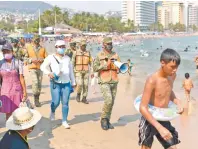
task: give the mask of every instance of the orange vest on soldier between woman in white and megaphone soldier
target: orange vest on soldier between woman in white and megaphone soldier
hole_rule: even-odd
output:
[[[88,51],[76,52],[76,71],[88,71],[89,70],[89,62],[90,62],[90,53]]]

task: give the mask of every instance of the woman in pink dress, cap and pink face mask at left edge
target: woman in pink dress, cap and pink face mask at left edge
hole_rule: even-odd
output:
[[[23,76],[23,63],[13,57],[10,44],[2,47],[4,59],[0,61],[1,96],[0,112],[6,113],[6,120],[26,100],[27,92]]]

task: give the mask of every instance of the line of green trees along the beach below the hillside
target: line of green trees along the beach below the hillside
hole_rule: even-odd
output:
[[[72,17],[69,16],[68,11],[62,11],[59,7],[55,6],[51,10],[46,10],[41,15],[41,28],[48,26],[55,26],[57,24],[63,23],[70,25],[74,28],[80,29],[81,31],[90,32],[137,32],[140,31],[139,25],[135,26],[133,20],[128,20],[123,23],[121,18],[109,17],[105,18],[103,15],[92,14],[89,12],[76,13]],[[0,29],[7,31],[13,31],[15,25],[11,20],[0,21]],[[31,20],[29,22],[22,21],[19,22],[16,27],[18,29],[24,29],[25,32],[38,33],[39,22],[37,20]],[[193,25],[189,26],[193,31],[197,31],[198,28]],[[150,31],[163,32],[165,29],[159,22],[153,23],[148,27]],[[175,32],[182,32],[186,30],[185,25],[176,23],[169,24],[168,30]]]

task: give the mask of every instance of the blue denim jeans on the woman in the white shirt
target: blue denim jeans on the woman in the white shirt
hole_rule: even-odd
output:
[[[71,92],[70,83],[55,83],[50,81],[50,90],[52,96],[51,102],[51,112],[55,113],[56,108],[59,106],[60,101],[62,103],[62,121],[67,121],[67,116],[69,112],[69,99]]]

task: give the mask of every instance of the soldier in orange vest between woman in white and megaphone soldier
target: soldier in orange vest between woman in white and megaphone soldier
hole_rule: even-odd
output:
[[[72,63],[76,75],[77,82],[77,102],[80,102],[82,92],[82,102],[89,104],[87,101],[88,83],[89,83],[89,66],[91,66],[92,58],[89,51],[86,51],[86,41],[80,42],[80,49],[73,54]]]

